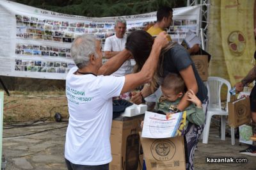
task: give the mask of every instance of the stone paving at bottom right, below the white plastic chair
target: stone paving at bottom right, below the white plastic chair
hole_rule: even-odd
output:
[[[229,128],[230,129],[230,128]],[[228,131],[228,128],[226,132]],[[198,149],[195,151],[195,169],[256,169],[256,157],[240,154],[240,150],[248,148],[247,144],[239,144],[239,139],[236,139],[236,144],[231,145],[231,138],[226,137],[225,141],[221,141],[218,128],[211,127],[209,133],[208,144],[198,143]],[[207,163],[208,158],[245,158],[246,163]]]

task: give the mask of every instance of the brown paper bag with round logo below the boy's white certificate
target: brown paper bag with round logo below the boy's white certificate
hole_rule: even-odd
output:
[[[186,169],[183,136],[140,139],[147,170]]]

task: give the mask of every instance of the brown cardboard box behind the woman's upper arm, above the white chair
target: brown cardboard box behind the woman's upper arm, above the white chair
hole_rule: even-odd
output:
[[[196,70],[202,79],[202,81],[207,81],[208,79],[208,56],[207,55],[195,55],[191,56],[191,59],[195,63]]]

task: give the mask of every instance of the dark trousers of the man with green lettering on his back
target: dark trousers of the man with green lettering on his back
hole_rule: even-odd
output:
[[[84,166],[73,164],[72,162],[67,160],[67,158],[65,158],[65,162],[68,170],[109,170],[109,164],[104,164],[100,166]]]

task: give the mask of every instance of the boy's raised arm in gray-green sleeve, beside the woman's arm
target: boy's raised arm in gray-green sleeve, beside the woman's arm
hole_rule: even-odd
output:
[[[196,97],[195,93],[189,89],[187,93],[189,101],[193,102],[196,105],[195,109],[187,111],[187,120],[196,125],[203,125],[205,121],[205,113],[202,108],[202,102]]]

